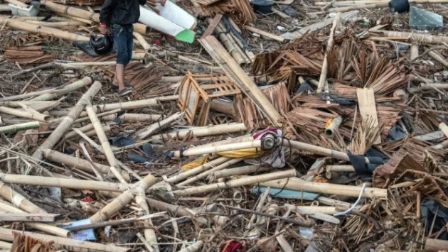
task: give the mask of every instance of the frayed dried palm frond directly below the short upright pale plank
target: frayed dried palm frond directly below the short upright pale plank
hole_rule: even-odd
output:
[[[358,130],[348,145],[348,150],[351,150],[351,153],[356,155],[364,155],[373,146],[376,139],[380,137],[383,128],[383,125],[375,126],[375,121],[371,117],[368,120],[364,120],[361,124],[358,124]]]

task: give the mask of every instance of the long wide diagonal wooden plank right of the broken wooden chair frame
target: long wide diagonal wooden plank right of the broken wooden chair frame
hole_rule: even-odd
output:
[[[238,63],[233,59],[232,56],[225,50],[223,45],[214,36],[208,36],[206,38],[200,39],[199,43],[205,48],[213,57],[215,62],[218,62],[221,68],[227,76],[235,82],[235,84],[240,87],[241,91],[244,92],[247,97],[252,99],[258,109],[270,120],[271,124],[274,126],[279,125],[280,116],[279,112],[271,104],[266,95],[261,91],[255,82],[246,75],[244,70],[238,65]]]

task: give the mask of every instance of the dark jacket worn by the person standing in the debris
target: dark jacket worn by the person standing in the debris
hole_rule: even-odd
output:
[[[146,0],[106,0],[100,11],[100,22],[107,25],[130,25],[140,17],[139,4]]]

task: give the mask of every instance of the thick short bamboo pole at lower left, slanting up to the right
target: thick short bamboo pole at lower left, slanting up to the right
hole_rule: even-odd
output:
[[[144,177],[143,180],[140,180],[139,182],[134,184],[132,186],[132,189],[122,193],[122,195],[116,197],[112,202],[107,204],[105,207],[100,209],[100,211],[98,211],[96,214],[90,217],[90,221],[92,221],[92,223],[107,221],[107,219],[112,217],[113,214],[115,214],[124,206],[129,204],[129,202],[131,202],[132,199],[134,199],[135,194],[136,192],[138,192],[138,190],[146,191],[146,189],[151,187],[151,185],[154,185],[156,182],[157,182],[156,177],[154,177],[151,174],[146,175],[146,177]]]

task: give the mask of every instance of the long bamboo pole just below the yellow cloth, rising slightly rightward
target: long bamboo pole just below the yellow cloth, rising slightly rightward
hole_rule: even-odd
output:
[[[281,178],[297,176],[296,170],[285,170],[282,172],[272,172],[264,175],[257,175],[252,177],[243,177],[238,180],[230,180],[228,182],[219,182],[211,185],[203,185],[198,187],[190,187],[184,190],[174,191],[176,196],[196,195],[206,192],[213,192],[221,189],[228,189],[233,187],[241,187],[244,185],[253,185],[260,182],[267,182],[271,180],[279,180]]]

